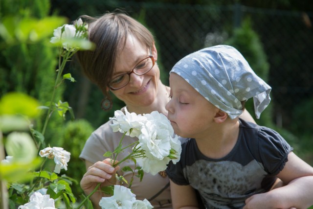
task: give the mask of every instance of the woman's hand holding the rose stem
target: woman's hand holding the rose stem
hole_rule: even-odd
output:
[[[99,183],[101,183],[100,187],[116,184],[115,173],[119,169],[119,166],[113,167],[111,162],[112,159],[109,158],[94,164],[86,162],[86,167],[92,164],[88,167],[87,172],[80,181],[80,186],[86,195],[89,195]],[[117,162],[115,161],[115,163]],[[95,206],[98,206],[103,196],[102,192],[95,192],[90,197],[90,200]]]

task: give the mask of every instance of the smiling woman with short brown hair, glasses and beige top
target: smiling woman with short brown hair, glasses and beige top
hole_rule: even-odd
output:
[[[105,95],[104,108],[112,102],[111,91],[122,100],[129,112],[136,114],[158,111],[167,116],[165,106],[169,101],[169,87],[162,84],[157,66],[157,51],[153,35],[141,23],[123,13],[106,13],[98,19],[90,18],[89,40],[96,44],[94,51],[79,51],[78,60],[84,73],[98,85]],[[248,114],[245,118],[254,121]],[[87,172],[81,180],[81,187],[88,195],[98,183],[101,186],[116,184],[115,172],[126,180],[131,172],[122,172],[113,168],[110,159],[103,157],[107,151],[113,151],[122,137],[113,133],[109,120],[100,126],[87,140],[80,157],[86,162]],[[123,146],[137,139],[125,137]],[[122,159],[127,152],[120,153]],[[134,162],[125,162],[123,166],[134,167]],[[157,209],[170,209],[171,196],[169,180],[164,172],[155,176],[145,173],[142,182],[134,178],[132,190],[136,199],[148,199]],[[104,194],[95,192],[90,200],[95,207]]]

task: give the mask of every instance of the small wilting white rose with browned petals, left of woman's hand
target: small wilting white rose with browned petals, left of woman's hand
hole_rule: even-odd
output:
[[[54,159],[55,173],[60,173],[61,169],[67,170],[67,163],[70,159],[70,153],[67,152],[62,147],[46,147],[45,149],[39,152],[41,157],[46,157],[49,159]]]

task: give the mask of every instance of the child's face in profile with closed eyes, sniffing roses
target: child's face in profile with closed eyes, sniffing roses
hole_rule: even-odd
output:
[[[207,136],[219,109],[176,73],[170,73],[170,87],[171,100],[166,110],[175,133],[185,138]]]

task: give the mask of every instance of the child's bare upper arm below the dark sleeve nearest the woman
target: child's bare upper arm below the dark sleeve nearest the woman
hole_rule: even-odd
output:
[[[194,188],[189,185],[177,185],[171,180],[170,184],[173,209],[198,209],[197,196]]]

